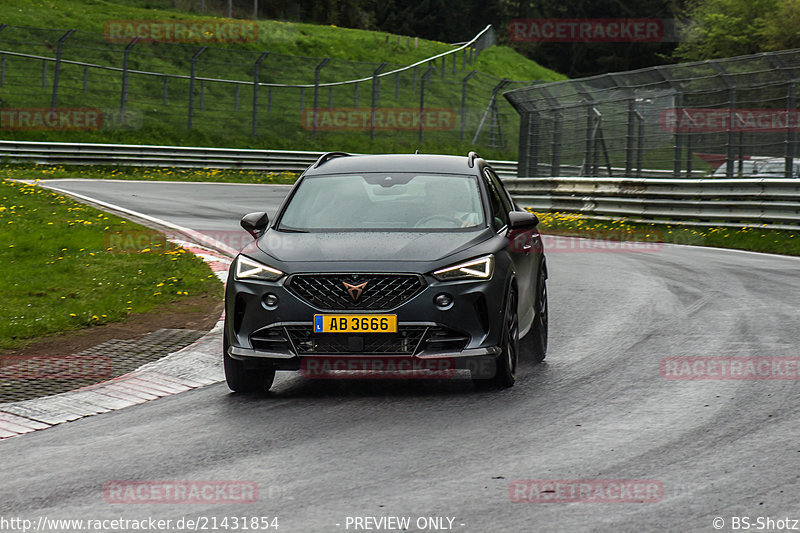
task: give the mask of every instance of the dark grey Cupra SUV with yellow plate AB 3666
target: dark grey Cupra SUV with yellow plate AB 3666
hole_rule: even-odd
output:
[[[241,224],[255,241],[225,293],[233,391],[269,389],[276,370],[467,369],[476,384],[510,387],[520,352],[545,357],[538,219],[474,152],[328,153],[275,220]]]

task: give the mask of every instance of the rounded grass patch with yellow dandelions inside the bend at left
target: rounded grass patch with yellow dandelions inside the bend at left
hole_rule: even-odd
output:
[[[152,230],[34,185],[0,181],[0,349],[195,296],[222,296],[201,259],[157,244],[133,252],[113,234]]]

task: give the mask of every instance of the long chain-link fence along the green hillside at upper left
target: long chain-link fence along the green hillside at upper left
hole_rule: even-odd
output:
[[[103,129],[205,132],[267,147],[389,139],[513,151],[519,123],[500,91],[531,82],[474,70],[495,42],[489,26],[464,45],[395,65],[0,25],[0,131],[24,129],[24,118],[36,119],[31,109],[97,108]]]

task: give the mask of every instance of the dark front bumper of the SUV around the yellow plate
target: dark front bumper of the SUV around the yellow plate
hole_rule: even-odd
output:
[[[506,280],[440,282],[424,277],[425,286],[401,305],[386,311],[349,311],[353,314],[395,314],[398,334],[392,344],[387,334],[313,333],[313,316],[325,313],[296,296],[285,280],[240,281],[229,277],[226,288],[228,355],[247,366],[271,365],[297,370],[309,358],[374,357],[452,360],[469,368],[468,360],[496,358],[500,353]],[[452,304],[437,307],[434,298],[447,293]],[[277,298],[266,305],[265,297]],[[330,312],[330,311],[328,311]],[[337,311],[338,312],[338,311]],[[403,338],[401,338],[403,337]]]

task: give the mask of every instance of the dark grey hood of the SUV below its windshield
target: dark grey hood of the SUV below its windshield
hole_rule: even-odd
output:
[[[269,230],[258,247],[279,261],[436,261],[492,236],[470,232],[290,233]]]

